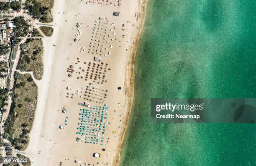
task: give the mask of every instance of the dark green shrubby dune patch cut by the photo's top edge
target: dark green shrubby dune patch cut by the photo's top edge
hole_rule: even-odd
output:
[[[51,8],[53,5],[53,0],[26,0],[25,2],[25,6],[33,18],[36,18],[40,22],[44,23],[53,21],[51,15]]]

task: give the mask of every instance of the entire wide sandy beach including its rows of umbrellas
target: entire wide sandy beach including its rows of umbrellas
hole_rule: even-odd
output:
[[[75,160],[83,165],[118,164],[132,104],[133,58],[144,12],[142,0],[123,0],[120,6],[54,1],[54,34],[43,39],[44,76],[36,82],[38,104],[25,151],[32,166],[61,162],[70,166]],[[94,57],[100,57],[100,62]],[[90,102],[90,107],[78,105],[84,102]],[[108,108],[104,115],[100,113],[104,118],[100,114],[96,118],[100,107]],[[67,113],[62,113],[63,108]],[[87,114],[89,109],[88,121],[93,119],[90,125],[94,126],[87,133],[80,125],[87,118],[82,112]],[[89,129],[88,123],[84,121]],[[95,135],[89,140],[85,133]],[[94,153],[100,157],[93,157]]]

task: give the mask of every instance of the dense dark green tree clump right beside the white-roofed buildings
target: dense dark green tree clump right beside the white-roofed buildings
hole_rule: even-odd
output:
[[[22,17],[15,17],[13,19],[15,22],[14,36],[16,37],[25,37],[28,34],[29,26],[26,20],[23,20]],[[14,38],[14,40],[15,40]]]

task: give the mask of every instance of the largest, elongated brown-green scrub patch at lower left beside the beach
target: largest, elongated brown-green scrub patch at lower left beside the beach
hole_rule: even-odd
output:
[[[35,82],[28,82],[30,74],[15,72],[16,87],[13,90],[14,108],[5,122],[5,137],[9,139],[15,149],[24,151],[29,142],[28,133],[31,131],[36,111],[37,86]],[[20,84],[18,87],[17,85]]]

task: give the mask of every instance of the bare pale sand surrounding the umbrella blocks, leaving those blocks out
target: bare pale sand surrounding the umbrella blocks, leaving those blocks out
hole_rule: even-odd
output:
[[[44,77],[37,82],[38,107],[30,134],[30,144],[25,151],[33,166],[54,166],[59,165],[60,162],[63,162],[64,166],[69,166],[74,165],[74,160],[91,165],[96,164],[97,161],[101,162],[100,165],[103,165],[102,163],[114,164],[113,160],[119,156],[120,151],[118,142],[121,141],[119,136],[123,133],[121,128],[126,125],[123,122],[126,120],[125,115],[131,106],[130,98],[133,87],[127,85],[131,85],[129,82],[133,81],[133,77],[130,78],[132,67],[128,67],[128,64],[133,65],[131,53],[132,49],[135,49],[133,44],[136,43],[136,35],[141,26],[141,20],[143,20],[138,18],[141,16],[139,14],[140,3],[139,0],[132,2],[123,0],[121,7],[105,7],[97,4],[87,5],[80,0],[54,1],[54,34],[52,37],[43,39],[45,48]],[[113,12],[116,11],[120,12],[119,17],[113,16]],[[103,146],[76,141],[79,109],[83,108],[79,107],[77,103],[84,102],[84,100],[76,94],[74,99],[66,98],[67,92],[74,93],[77,89],[86,88],[92,82],[90,79],[85,81],[76,77],[67,77],[67,68],[70,64],[74,64],[77,58],[81,61],[77,64],[79,67],[83,67],[83,62],[94,63],[95,55],[87,53],[87,49],[91,41],[92,27],[99,17],[108,18],[110,23],[115,23],[115,26],[118,27],[115,30],[117,40],[113,41],[114,47],[111,49],[111,56],[107,55],[106,57],[106,59],[110,59],[110,62],[102,61],[108,63],[108,67],[111,68],[106,74],[108,82],[95,83],[95,87],[108,90],[108,96],[104,103],[111,106],[111,109],[108,109],[107,119],[111,124],[106,125]],[[129,22],[127,22],[128,20]],[[77,23],[83,23],[82,35],[78,37],[81,40],[75,43],[73,40],[77,34]],[[123,23],[125,27],[122,27]],[[134,26],[132,26],[133,24]],[[122,28],[125,28],[125,31]],[[86,52],[80,53],[79,48],[82,46],[85,47]],[[72,90],[67,91],[67,87],[71,87]],[[122,87],[122,90],[118,90],[118,87]],[[92,103],[91,105],[98,104]],[[67,109],[67,114],[61,113],[63,107]],[[64,125],[66,116],[70,117],[68,125],[65,126],[65,129],[60,130],[59,125]],[[112,131],[115,132],[112,133]],[[107,141],[109,141],[108,144]],[[102,148],[105,148],[106,151],[102,151]],[[118,150],[118,155],[116,155],[116,150]],[[95,152],[101,154],[100,158],[92,157]]]

